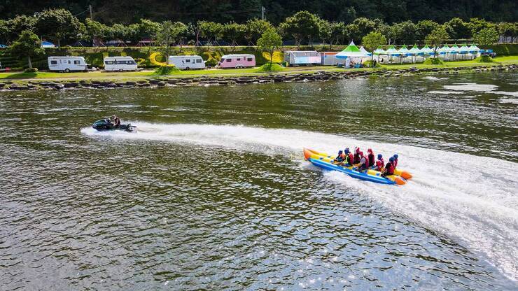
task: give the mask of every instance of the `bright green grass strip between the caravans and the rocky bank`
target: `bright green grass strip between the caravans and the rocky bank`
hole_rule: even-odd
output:
[[[430,64],[382,64],[381,69],[408,69],[413,66],[417,69],[427,68],[444,68],[444,67],[469,67],[469,66],[494,66],[498,64],[518,64],[518,56],[496,57],[494,62],[482,63],[474,60],[444,62],[441,65]],[[276,73],[314,73],[316,71],[358,71],[370,70],[365,69],[340,69],[335,66],[297,66],[288,67],[281,72]],[[257,68],[251,69],[207,69],[207,70],[191,70],[191,71],[176,71],[167,76],[155,75],[154,71],[138,71],[138,72],[74,72],[74,73],[55,73],[55,72],[37,72],[37,73],[23,73],[23,72],[8,72],[0,73],[0,79],[42,79],[42,80],[57,80],[57,79],[103,79],[103,80],[120,80],[132,78],[171,78],[171,77],[194,77],[194,76],[257,76],[260,74],[267,74],[267,72],[260,72]]]

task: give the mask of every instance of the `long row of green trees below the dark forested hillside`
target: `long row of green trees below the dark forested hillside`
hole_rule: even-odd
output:
[[[18,15],[9,20],[0,20],[0,41],[12,43],[22,31],[28,30],[58,46],[73,45],[76,41],[99,45],[111,40],[135,45],[143,39],[154,40],[164,23],[141,19],[129,25],[107,25],[90,18],[80,21],[69,10],[49,9],[33,16]],[[176,45],[255,45],[262,32],[267,29],[275,29],[285,40],[292,40],[297,46],[314,43],[343,45],[349,41],[360,44],[363,37],[371,31],[379,32],[388,44],[424,43],[426,36],[437,29],[444,29],[451,41],[470,40],[483,29],[495,31],[493,34],[505,36],[510,41],[516,40],[518,34],[516,22],[494,23],[479,18],[465,21],[455,17],[442,24],[432,20],[416,23],[407,20],[387,24],[380,19],[358,17],[346,24],[330,22],[308,11],[299,11],[286,17],[278,26],[257,18],[245,23],[204,20],[195,23],[171,23],[174,36],[170,41]]]

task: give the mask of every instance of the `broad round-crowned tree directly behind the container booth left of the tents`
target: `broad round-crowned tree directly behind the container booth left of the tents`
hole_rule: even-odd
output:
[[[318,36],[318,17],[307,11],[299,11],[295,15],[286,18],[279,28],[284,36],[291,36],[295,39],[297,49],[304,38],[313,45],[313,38]]]

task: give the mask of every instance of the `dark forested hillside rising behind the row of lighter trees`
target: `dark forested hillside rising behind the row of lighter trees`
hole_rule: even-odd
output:
[[[141,18],[155,21],[246,22],[265,17],[279,24],[299,10],[316,13],[325,20],[350,23],[357,17],[379,18],[387,23],[404,20],[446,22],[453,17],[479,17],[493,22],[516,22],[517,0],[1,0],[0,19],[32,15],[45,8],[66,8],[84,19],[93,7],[94,19],[106,24],[130,24]]]

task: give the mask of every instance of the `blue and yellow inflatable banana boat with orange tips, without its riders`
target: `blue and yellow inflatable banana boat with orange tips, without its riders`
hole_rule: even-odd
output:
[[[332,160],[334,157],[325,155],[321,152],[316,152],[314,150],[309,150],[307,148],[304,148],[304,158],[311,162],[311,164],[321,167],[322,169],[340,171],[360,180],[367,180],[370,182],[387,185],[405,185],[407,183],[404,178],[398,175],[386,176],[384,178],[381,177],[381,172],[379,171],[367,170],[366,172],[360,172],[353,170],[353,166],[339,166],[337,164],[333,164]]]

